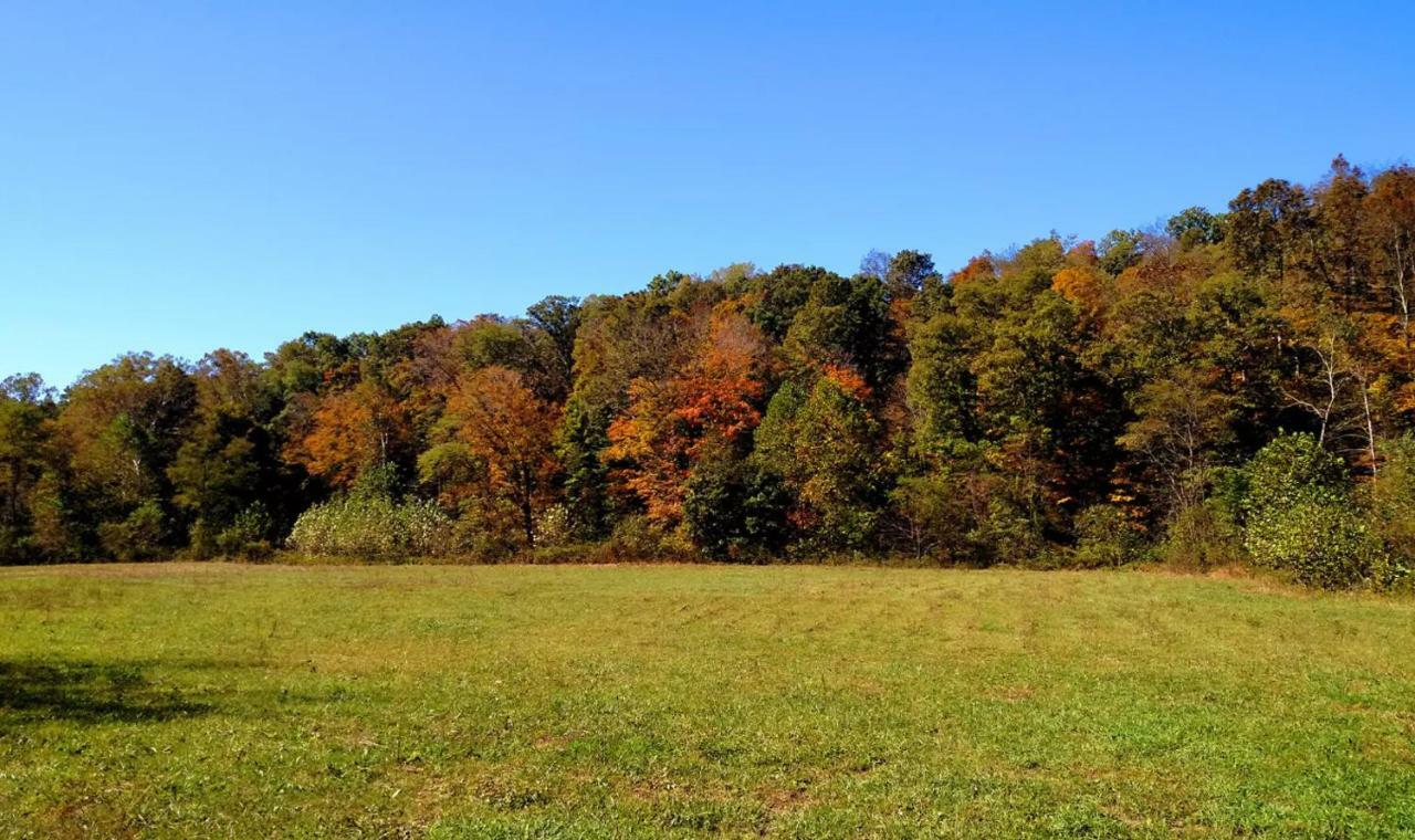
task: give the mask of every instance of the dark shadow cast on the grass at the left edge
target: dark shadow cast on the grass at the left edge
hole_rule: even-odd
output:
[[[0,659],[0,731],[30,723],[144,723],[215,710],[212,692],[154,683],[156,660]],[[164,663],[170,666],[170,663]],[[188,667],[219,667],[190,663]]]

